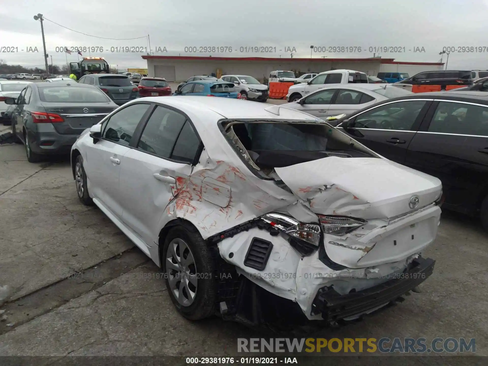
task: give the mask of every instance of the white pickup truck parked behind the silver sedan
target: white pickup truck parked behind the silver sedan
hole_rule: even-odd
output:
[[[366,84],[368,83],[367,75],[364,72],[354,70],[330,70],[321,72],[308,82],[290,86],[286,100],[288,102],[294,102],[325,86],[347,83]]]

